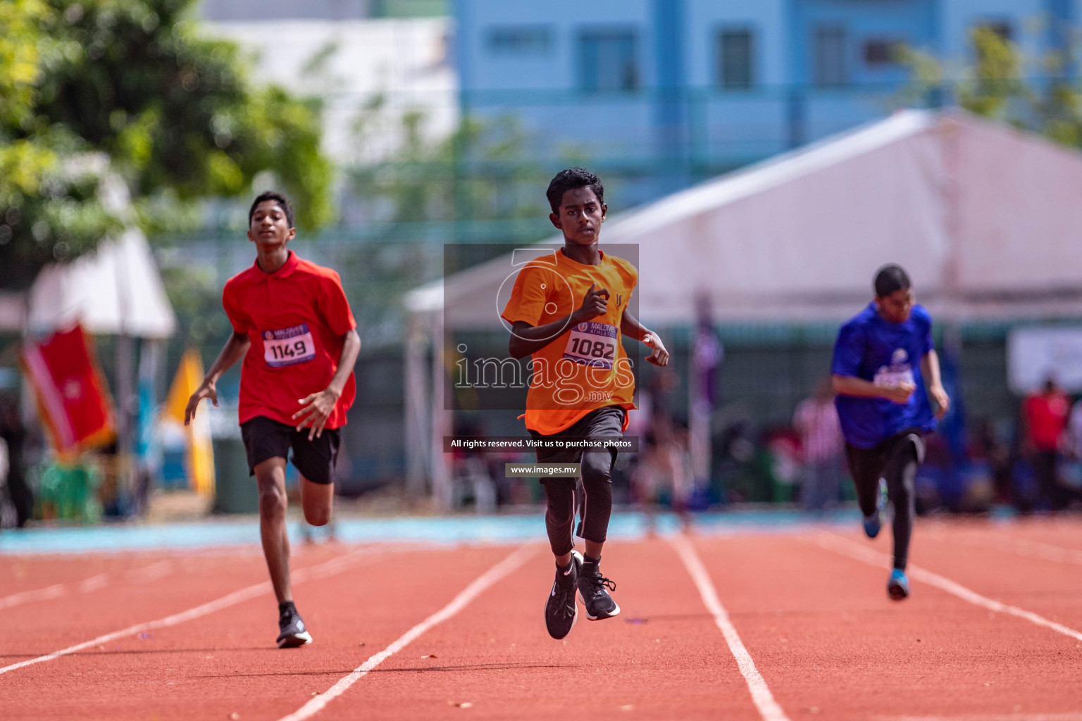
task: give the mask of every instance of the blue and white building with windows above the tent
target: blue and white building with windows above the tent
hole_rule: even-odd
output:
[[[464,114],[517,116],[538,157],[637,175],[646,200],[906,104],[899,45],[959,74],[986,26],[1037,71],[1069,54],[1082,0],[453,0],[452,12]]]

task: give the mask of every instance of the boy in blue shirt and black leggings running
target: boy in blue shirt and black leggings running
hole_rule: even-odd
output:
[[[936,418],[950,406],[932,343],[932,317],[913,305],[909,276],[900,266],[880,269],[875,298],[839,331],[831,373],[849,473],[869,538],[879,535],[886,500],[894,503],[894,569],[887,595],[900,601],[909,596],[906,562],[913,531],[913,479],[924,459],[922,436],[935,430]]]

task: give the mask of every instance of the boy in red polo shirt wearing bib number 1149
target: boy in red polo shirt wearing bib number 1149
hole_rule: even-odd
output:
[[[345,425],[360,351],[357,323],[342,282],[330,268],[287,249],[296,235],[293,209],[264,192],[248,212],[255,263],[230,278],[222,305],[233,335],[188,399],[184,422],[203,398],[217,405],[215,383],[245,359],[240,371],[240,431],[248,468],[260,489],[260,536],[278,598],[278,647],[312,642],[293,605],[286,532],[286,459],[301,472],[301,504],[312,525],[330,520],[339,428]]]

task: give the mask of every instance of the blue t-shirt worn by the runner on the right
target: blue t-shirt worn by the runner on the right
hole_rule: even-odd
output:
[[[839,396],[834,399],[845,440],[858,449],[872,449],[907,428],[934,430],[935,414],[921,377],[921,360],[933,350],[932,317],[913,306],[909,320],[892,323],[871,303],[837,333],[831,373],[870,380],[878,386],[916,384],[905,405],[886,398]]]

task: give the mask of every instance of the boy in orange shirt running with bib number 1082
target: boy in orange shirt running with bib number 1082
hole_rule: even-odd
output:
[[[618,439],[634,409],[635,379],[621,344],[628,335],[651,348],[646,360],[669,363],[664,344],[629,311],[638,271],[598,249],[608,206],[601,179],[581,168],[560,171],[545,193],[549,219],[564,233],[564,248],[527,264],[518,273],[502,317],[512,324],[513,358],[532,355],[526,428],[538,439]],[[579,592],[590,620],[620,613],[601,573],[602,546],[612,510],[616,451],[538,450],[538,463],[581,463],[581,522],[585,557],[575,550],[575,478],[544,478],[545,528],[556,560],[556,579],[545,602],[545,626],[567,636],[578,616]]]

